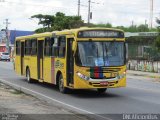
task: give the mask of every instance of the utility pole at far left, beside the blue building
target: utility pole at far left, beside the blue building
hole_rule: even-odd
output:
[[[9,31],[8,31],[8,25],[10,23],[8,22],[8,19],[5,19],[4,24],[6,24],[6,49],[7,49],[7,52],[10,53],[10,49],[9,49]]]

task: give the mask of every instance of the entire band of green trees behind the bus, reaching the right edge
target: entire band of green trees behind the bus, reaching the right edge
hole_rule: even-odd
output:
[[[62,12],[57,12],[55,15],[42,15],[37,14],[31,16],[31,18],[36,18],[39,20],[38,24],[42,25],[43,28],[39,28],[35,30],[35,32],[46,32],[46,31],[54,31],[54,30],[63,30],[63,29],[72,29],[72,28],[79,28],[82,26],[88,26],[88,27],[105,27],[105,28],[111,28],[113,27],[110,23],[99,23],[99,24],[93,24],[90,23],[89,25],[87,23],[84,23],[81,16],[66,16]],[[160,23],[160,20],[157,19],[157,23]],[[117,26],[115,28],[122,29],[125,32],[156,32],[157,29],[149,29],[148,25],[141,24],[139,26],[132,25],[129,27],[124,26]]]

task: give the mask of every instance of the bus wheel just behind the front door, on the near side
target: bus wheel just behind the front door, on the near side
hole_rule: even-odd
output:
[[[64,80],[63,80],[63,76],[62,74],[59,76],[59,80],[58,80],[58,87],[59,87],[59,91],[61,93],[67,93],[68,89],[66,87],[64,87]]]

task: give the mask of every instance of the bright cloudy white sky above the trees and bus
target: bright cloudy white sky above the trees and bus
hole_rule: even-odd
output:
[[[80,15],[87,22],[88,0],[80,0]],[[91,0],[92,23],[111,23],[113,26],[130,26],[150,23],[151,0]],[[160,0],[153,0],[153,26],[160,18]],[[77,15],[78,0],[0,0],[0,29],[5,28],[9,19],[10,30],[34,31],[42,27],[37,19],[29,19],[35,14],[54,15],[63,12]]]

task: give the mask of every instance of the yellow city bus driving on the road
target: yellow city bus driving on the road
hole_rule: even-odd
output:
[[[17,37],[15,71],[55,84],[60,92],[126,86],[124,32],[113,28],[79,28]]]

